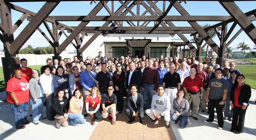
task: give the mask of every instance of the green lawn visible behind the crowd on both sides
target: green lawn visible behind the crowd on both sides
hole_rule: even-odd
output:
[[[255,60],[256,61],[256,60]],[[37,66],[29,66],[32,69],[39,70],[42,65]],[[236,65],[236,68],[241,71],[241,73],[245,76],[245,83],[250,85],[251,88],[256,89],[256,65]],[[5,91],[5,82],[4,82],[4,74],[3,68],[0,68],[0,92]]]

